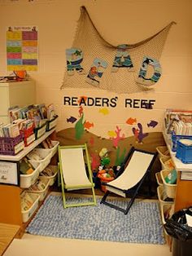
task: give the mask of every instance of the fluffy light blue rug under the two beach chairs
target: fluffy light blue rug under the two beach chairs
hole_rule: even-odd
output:
[[[71,197],[73,203],[84,199]],[[89,200],[89,198],[86,198]],[[124,201],[116,201],[126,207]],[[26,231],[33,235],[95,241],[164,244],[157,202],[135,201],[127,215],[107,205],[63,209],[62,196],[48,196]]]

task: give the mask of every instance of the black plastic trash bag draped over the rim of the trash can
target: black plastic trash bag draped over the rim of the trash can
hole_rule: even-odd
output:
[[[164,224],[164,228],[168,232],[168,235],[180,241],[192,240],[192,227],[187,225],[185,214],[192,215],[192,206],[172,214],[172,218],[168,218]]]

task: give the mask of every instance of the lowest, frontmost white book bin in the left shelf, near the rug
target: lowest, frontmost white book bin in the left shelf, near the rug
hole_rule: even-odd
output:
[[[39,198],[39,195],[26,192],[26,190],[21,193],[21,214],[24,223],[27,223],[28,219],[32,217],[34,212],[37,210]]]

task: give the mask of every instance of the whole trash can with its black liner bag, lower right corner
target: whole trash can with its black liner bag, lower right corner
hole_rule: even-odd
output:
[[[172,236],[172,256],[192,255],[192,206],[179,210],[166,220],[165,230]]]

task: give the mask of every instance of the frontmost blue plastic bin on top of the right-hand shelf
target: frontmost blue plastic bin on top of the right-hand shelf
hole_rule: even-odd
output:
[[[177,141],[176,157],[184,164],[192,163],[192,139],[180,139]]]

